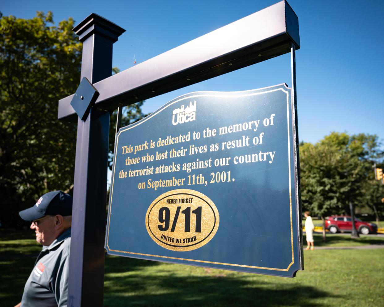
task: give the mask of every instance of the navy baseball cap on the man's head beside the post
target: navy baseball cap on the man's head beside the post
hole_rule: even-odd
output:
[[[19,212],[25,221],[34,221],[46,215],[72,215],[72,196],[63,191],[48,192],[31,208]]]

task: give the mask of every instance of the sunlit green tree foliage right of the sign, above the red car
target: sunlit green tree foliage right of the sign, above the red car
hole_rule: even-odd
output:
[[[303,208],[325,217],[349,213],[349,201],[355,206],[377,204],[383,190],[372,178],[372,165],[383,157],[380,145],[376,135],[338,132],[314,145],[301,143]]]

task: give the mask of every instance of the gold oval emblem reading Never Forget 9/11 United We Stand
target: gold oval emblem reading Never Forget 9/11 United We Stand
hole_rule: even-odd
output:
[[[171,251],[192,251],[216,234],[218,211],[204,194],[188,189],[168,191],[152,201],[146,214],[148,234]]]

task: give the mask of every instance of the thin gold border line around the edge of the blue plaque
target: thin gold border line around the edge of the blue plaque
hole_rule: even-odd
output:
[[[287,89],[290,89],[289,87],[286,86],[286,84],[283,83],[283,84],[277,84],[277,85],[274,85],[274,86],[263,87],[263,88],[257,89],[257,90],[267,89],[267,88],[276,87],[276,86],[284,86]],[[293,225],[292,225],[292,193],[291,193],[292,187],[291,187],[291,153],[290,153],[290,141],[291,141],[291,139],[290,139],[290,131],[289,131],[289,127],[290,127],[290,120],[289,120],[289,92],[285,91],[283,88],[280,87],[280,88],[277,88],[277,89],[271,89],[270,91],[263,91],[263,92],[256,92],[256,93],[247,93],[247,92],[255,91],[255,89],[251,89],[251,90],[248,90],[248,91],[236,92],[236,93],[244,93],[244,94],[232,95],[230,97],[255,96],[255,95],[266,94],[266,93],[269,93],[269,92],[280,91],[280,90],[286,93],[286,104],[287,104],[288,181],[289,181],[289,203],[290,203],[290,218],[291,218],[290,219],[290,224],[291,224],[291,252],[292,252],[292,261],[291,261],[291,263],[288,265],[288,267],[286,269],[280,269],[280,268],[275,268],[275,267],[248,266],[248,265],[245,265],[245,264],[233,264],[233,263],[224,263],[224,262],[195,260],[195,259],[186,259],[186,258],[179,258],[179,257],[159,256],[159,255],[142,254],[142,253],[134,253],[134,252],[129,252],[129,251],[119,251],[119,250],[116,250],[116,249],[111,249],[109,247],[109,245],[108,245],[108,239],[109,239],[109,224],[111,223],[112,199],[113,199],[113,183],[114,183],[114,175],[115,175],[116,163],[113,163],[113,175],[112,175],[112,183],[111,183],[111,203],[109,204],[110,208],[109,208],[109,217],[108,217],[108,236],[107,236],[107,244],[106,244],[108,249],[110,251],[114,251],[114,252],[118,252],[118,253],[132,254],[132,255],[138,255],[138,256],[159,257],[159,258],[164,258],[164,259],[175,259],[175,260],[184,260],[184,261],[194,261],[194,262],[202,262],[202,263],[207,263],[207,264],[221,264],[221,265],[226,265],[226,266],[248,267],[248,268],[252,268],[252,269],[265,269],[265,270],[273,270],[273,271],[288,271],[289,268],[295,263],[295,257],[294,257],[294,252],[293,252]],[[226,93],[231,93],[231,92],[226,92]],[[190,95],[190,96],[188,96],[188,95]],[[167,107],[170,107],[170,106],[172,106],[172,104],[174,104],[176,102],[179,102],[179,101],[183,101],[183,100],[191,99],[191,98],[195,98],[195,97],[223,97],[223,98],[228,97],[228,95],[224,95],[224,94],[194,94],[194,93],[186,94],[186,95],[183,95],[183,96],[184,97],[182,97],[180,99],[176,99],[172,103],[167,104],[166,106],[162,107],[158,111],[156,111],[156,112],[152,113],[151,115],[145,117],[144,119],[140,120],[136,124],[132,124],[128,128],[126,128],[124,130],[119,130],[118,134],[116,135],[117,139],[116,139],[116,148],[115,148],[115,153],[114,153],[114,161],[116,161],[116,155],[117,155],[116,149],[118,148],[119,136],[120,136],[121,132],[127,131],[129,129],[137,127],[138,125],[141,125],[142,123],[144,123],[147,120],[151,119],[152,117],[156,116],[160,112],[164,111]]]

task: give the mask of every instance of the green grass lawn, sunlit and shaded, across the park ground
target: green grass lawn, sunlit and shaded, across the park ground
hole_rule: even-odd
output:
[[[0,235],[0,301],[13,306],[40,247],[28,232]],[[327,238],[323,246],[384,243]],[[305,251],[305,270],[290,279],[106,256],[104,306],[384,306],[383,257],[384,249]]]

